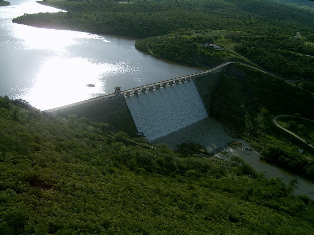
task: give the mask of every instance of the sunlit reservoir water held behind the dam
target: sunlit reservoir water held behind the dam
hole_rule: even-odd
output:
[[[24,13],[58,12],[30,0],[0,7],[0,96],[42,110],[201,70],[135,49],[135,39],[12,23]],[[86,85],[93,83],[95,87]]]

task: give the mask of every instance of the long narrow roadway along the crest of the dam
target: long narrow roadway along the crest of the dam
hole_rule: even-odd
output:
[[[119,97],[130,97],[131,95],[138,95],[138,93],[140,93],[140,92],[146,93],[147,91],[153,91],[154,89],[159,90],[161,87],[166,88],[167,86],[172,86],[173,84],[184,83],[186,81],[190,81],[191,79],[194,80],[197,77],[202,77],[202,76],[206,76],[208,74],[221,72],[221,71],[223,71],[223,69],[226,65],[229,65],[231,63],[233,63],[233,62],[226,62],[224,64],[218,65],[218,66],[216,66],[210,70],[206,70],[203,72],[199,72],[199,73],[195,73],[195,74],[191,74],[191,75],[187,75],[187,76],[182,76],[182,77],[177,77],[177,78],[170,79],[170,80],[160,81],[160,82],[148,84],[145,86],[139,86],[139,87],[135,87],[135,88],[128,89],[125,91],[121,91],[118,93],[112,93],[112,94],[108,94],[105,96],[100,96],[100,97],[76,102],[73,104],[68,104],[68,105],[64,105],[61,107],[48,109],[48,110],[45,110],[45,112],[51,113],[51,114],[58,114],[61,112],[68,112],[68,111],[71,111],[73,109],[93,105],[96,103],[112,100],[112,99],[119,98]]]

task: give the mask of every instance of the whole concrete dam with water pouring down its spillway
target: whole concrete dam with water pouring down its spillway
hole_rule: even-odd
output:
[[[198,87],[197,80],[207,80],[231,63],[124,91],[116,87],[115,93],[49,109],[44,113],[63,118],[75,114],[91,121],[108,123],[113,131],[124,131],[129,136],[143,132],[151,141],[208,117],[200,94],[202,87]]]

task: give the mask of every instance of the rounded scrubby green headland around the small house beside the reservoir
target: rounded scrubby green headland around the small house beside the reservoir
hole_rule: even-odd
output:
[[[226,60],[247,62],[245,58],[232,51],[237,44],[228,39],[228,36],[246,35],[246,32],[228,30],[194,30],[182,31],[165,36],[141,39],[136,41],[135,47],[157,58],[174,61],[190,66],[204,65],[214,67]],[[226,50],[214,50],[204,44],[217,43]]]

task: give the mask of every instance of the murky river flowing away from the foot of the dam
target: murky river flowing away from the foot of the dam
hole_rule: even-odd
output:
[[[251,149],[250,145],[243,139],[234,139],[228,136],[221,123],[211,117],[204,118],[191,125],[176,130],[170,134],[153,140],[154,144],[166,143],[172,149],[177,145],[193,141],[205,147],[209,153],[213,153],[213,158],[230,161],[232,156],[241,157],[246,163],[250,164],[257,172],[263,172],[265,178],[279,177],[286,185],[294,178],[295,195],[308,195],[314,200],[314,184],[298,175],[292,175],[289,172],[280,169],[277,166],[270,165],[263,159],[261,154]],[[238,141],[242,144],[240,148],[230,148],[227,146],[232,141]]]

